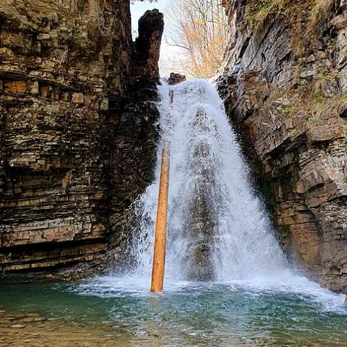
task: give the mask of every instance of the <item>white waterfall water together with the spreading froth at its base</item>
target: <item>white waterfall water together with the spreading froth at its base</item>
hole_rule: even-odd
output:
[[[289,266],[262,201],[249,183],[247,164],[214,86],[205,81],[164,84],[160,86],[160,96],[162,142],[168,142],[171,147],[171,170],[167,266],[164,292],[158,295],[194,294],[206,288],[242,290],[250,299],[280,293],[310,301],[319,312],[346,314],[342,295],[321,288]],[[149,287],[162,142],[158,146],[155,182],[134,204],[139,225],[130,252],[136,260],[135,266],[129,269],[128,276],[83,282],[76,289],[82,294],[153,295]],[[189,234],[189,209],[199,194],[202,179],[210,187],[208,208],[214,218],[210,262],[217,279],[212,283],[192,282],[187,278],[187,268],[192,266],[189,257],[195,246]]]

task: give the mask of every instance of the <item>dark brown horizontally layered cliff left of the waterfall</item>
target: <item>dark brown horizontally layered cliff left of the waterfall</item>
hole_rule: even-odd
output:
[[[110,239],[124,244],[155,164],[155,19],[138,62],[126,0],[1,2],[0,269],[99,260]]]

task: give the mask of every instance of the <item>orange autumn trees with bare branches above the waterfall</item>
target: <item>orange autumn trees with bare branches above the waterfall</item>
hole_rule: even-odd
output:
[[[221,0],[176,0],[169,11],[171,44],[185,51],[180,62],[188,74],[209,78],[221,67],[228,23]]]

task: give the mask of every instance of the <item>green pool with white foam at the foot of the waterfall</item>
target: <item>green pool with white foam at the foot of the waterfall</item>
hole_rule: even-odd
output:
[[[343,296],[293,273],[230,282],[2,282],[0,310],[104,328],[128,346],[346,346]],[[42,336],[44,331],[42,332]],[[78,346],[78,345],[77,345]]]

